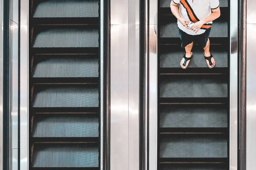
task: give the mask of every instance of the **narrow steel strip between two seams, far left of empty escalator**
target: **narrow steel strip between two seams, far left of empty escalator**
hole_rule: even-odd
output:
[[[11,21],[10,27],[10,112],[12,147],[18,148],[18,25]]]

